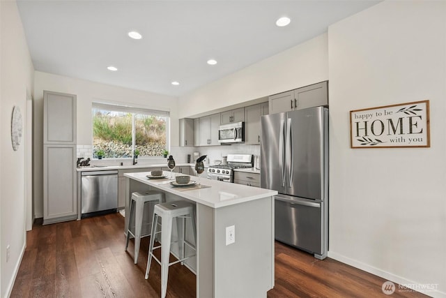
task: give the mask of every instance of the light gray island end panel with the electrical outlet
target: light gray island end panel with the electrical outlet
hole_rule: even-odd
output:
[[[272,197],[215,209],[215,298],[266,297],[274,286]],[[235,243],[226,246],[226,227]]]

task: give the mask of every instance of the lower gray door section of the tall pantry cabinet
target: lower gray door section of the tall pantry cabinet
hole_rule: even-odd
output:
[[[43,224],[77,218],[76,146],[43,146]]]

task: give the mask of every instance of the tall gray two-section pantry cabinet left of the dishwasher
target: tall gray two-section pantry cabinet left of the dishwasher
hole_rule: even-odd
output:
[[[43,91],[43,224],[77,218],[76,96]]]

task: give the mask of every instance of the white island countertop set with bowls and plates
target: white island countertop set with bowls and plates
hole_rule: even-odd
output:
[[[200,182],[202,185],[210,187],[191,189],[187,191],[179,190],[180,188],[170,185],[172,180],[167,181],[165,179],[148,179],[146,175],[149,173],[150,172],[127,173],[124,174],[124,176],[147,184],[148,186],[154,186],[162,191],[166,191],[167,193],[173,193],[174,195],[178,195],[186,198],[187,200],[191,200],[212,208],[225,207],[277,195],[277,191],[206,179],[205,177],[201,177]],[[164,171],[164,174],[167,174],[167,177],[169,177],[170,172]],[[192,181],[198,181],[198,177],[191,176],[190,179]]]

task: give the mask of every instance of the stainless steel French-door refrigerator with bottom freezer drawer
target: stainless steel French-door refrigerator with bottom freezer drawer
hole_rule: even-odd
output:
[[[328,252],[328,109],[261,119],[261,187],[277,191],[275,239],[315,258]]]

